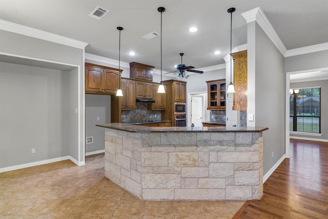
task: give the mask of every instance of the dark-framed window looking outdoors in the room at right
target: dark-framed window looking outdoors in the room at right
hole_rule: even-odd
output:
[[[298,93],[295,93],[295,91]],[[320,88],[294,89],[290,94],[290,131],[321,133]]]

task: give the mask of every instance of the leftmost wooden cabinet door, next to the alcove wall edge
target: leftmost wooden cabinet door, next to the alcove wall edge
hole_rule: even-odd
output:
[[[103,72],[102,68],[86,66],[86,92],[103,92]]]

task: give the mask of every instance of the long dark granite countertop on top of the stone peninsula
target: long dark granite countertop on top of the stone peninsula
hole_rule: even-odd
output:
[[[109,129],[127,132],[262,132],[266,127],[147,127],[122,123],[107,123],[96,125]]]

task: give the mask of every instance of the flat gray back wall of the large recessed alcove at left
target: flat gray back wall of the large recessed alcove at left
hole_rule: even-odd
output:
[[[0,168],[68,156],[70,73],[0,66]]]

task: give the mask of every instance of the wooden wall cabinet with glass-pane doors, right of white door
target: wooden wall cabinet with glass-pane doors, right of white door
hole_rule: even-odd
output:
[[[208,81],[208,110],[226,109],[226,79]]]

